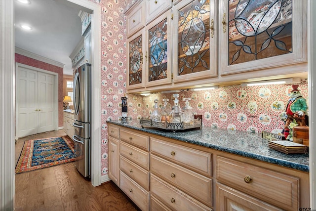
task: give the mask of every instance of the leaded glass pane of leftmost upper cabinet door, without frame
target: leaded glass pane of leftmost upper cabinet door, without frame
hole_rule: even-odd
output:
[[[129,85],[142,83],[142,36],[129,42]]]

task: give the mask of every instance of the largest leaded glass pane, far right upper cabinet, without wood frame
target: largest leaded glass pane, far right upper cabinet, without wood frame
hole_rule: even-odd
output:
[[[229,65],[292,53],[292,0],[229,0]]]

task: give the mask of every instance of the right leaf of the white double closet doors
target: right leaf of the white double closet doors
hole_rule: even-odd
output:
[[[39,131],[54,130],[54,76],[38,74]]]

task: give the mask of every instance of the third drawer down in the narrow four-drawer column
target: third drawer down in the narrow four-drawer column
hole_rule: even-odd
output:
[[[136,164],[128,161],[123,156],[119,158],[120,170],[122,170],[127,176],[134,179],[146,190],[149,190],[149,171],[137,166]]]

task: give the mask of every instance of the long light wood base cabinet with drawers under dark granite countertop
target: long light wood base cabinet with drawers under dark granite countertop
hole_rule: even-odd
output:
[[[109,177],[143,211],[310,206],[308,172],[112,124],[108,133]]]

